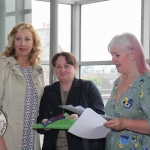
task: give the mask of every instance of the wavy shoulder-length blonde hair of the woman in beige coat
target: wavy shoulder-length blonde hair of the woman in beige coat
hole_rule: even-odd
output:
[[[13,27],[12,31],[8,34],[8,38],[7,38],[8,43],[4,47],[2,56],[6,56],[6,57],[13,56],[17,60],[17,56],[15,54],[15,49],[13,48],[14,38],[18,32],[20,32],[21,30],[24,30],[24,29],[28,29],[32,33],[32,37],[33,37],[33,48],[29,55],[30,65],[38,64],[41,61],[41,59],[39,57],[39,55],[41,53],[40,38],[39,38],[36,30],[34,29],[34,27],[31,24],[25,23],[25,22],[22,22],[22,23],[16,25],[15,27]]]

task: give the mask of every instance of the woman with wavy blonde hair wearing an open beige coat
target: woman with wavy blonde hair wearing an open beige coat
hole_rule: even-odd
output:
[[[40,150],[39,135],[32,130],[44,89],[40,52],[40,39],[31,24],[12,29],[0,55],[0,109],[8,123],[0,150]]]

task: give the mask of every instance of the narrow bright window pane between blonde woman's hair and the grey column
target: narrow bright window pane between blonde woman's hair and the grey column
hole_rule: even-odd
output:
[[[32,25],[41,38],[42,61],[49,61],[50,2],[32,1]]]

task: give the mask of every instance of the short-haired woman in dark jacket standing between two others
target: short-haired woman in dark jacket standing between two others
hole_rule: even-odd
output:
[[[38,123],[67,112],[58,105],[81,105],[104,114],[101,94],[92,81],[75,78],[77,64],[72,53],[60,52],[52,57],[52,66],[59,81],[46,86],[40,103]],[[42,150],[104,150],[105,139],[86,140],[67,130],[40,130],[44,134]]]

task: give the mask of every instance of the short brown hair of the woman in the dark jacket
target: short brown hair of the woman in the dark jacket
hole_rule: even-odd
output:
[[[52,66],[53,68],[56,66],[56,60],[59,56],[64,56],[65,57],[65,60],[68,64],[72,65],[72,66],[76,66],[76,58],[75,56],[72,54],[72,53],[69,53],[69,52],[59,52],[59,53],[56,53],[53,57],[52,57]]]

